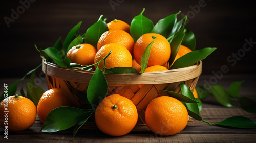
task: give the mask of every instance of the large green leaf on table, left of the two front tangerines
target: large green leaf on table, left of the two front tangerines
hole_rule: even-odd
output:
[[[68,129],[92,112],[93,109],[83,110],[66,106],[55,108],[47,115],[40,132],[57,132]]]

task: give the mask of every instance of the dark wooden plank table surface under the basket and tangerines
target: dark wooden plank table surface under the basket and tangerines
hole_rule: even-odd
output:
[[[205,81],[213,75],[202,75],[198,85],[203,85]],[[256,100],[255,88],[256,76],[251,75],[224,75],[217,84],[228,86],[234,81],[245,80],[242,84],[240,96],[246,96]],[[16,79],[0,79],[1,83],[15,81]],[[44,89],[46,82],[42,83]],[[1,90],[2,92],[2,90]],[[215,123],[231,116],[246,116],[256,120],[256,114],[248,113],[240,107],[226,108],[219,105],[214,98],[203,101],[201,116],[204,120]],[[8,139],[4,138],[3,129],[0,129],[0,142],[256,142],[256,128],[238,129],[224,128],[220,126],[209,126],[208,124],[194,120],[188,122],[186,128],[180,133],[172,136],[156,136],[151,131],[131,132],[121,137],[111,137],[98,130],[80,129],[72,141],[72,128],[56,133],[39,133],[42,123],[36,118],[34,125],[23,132],[9,132]]]

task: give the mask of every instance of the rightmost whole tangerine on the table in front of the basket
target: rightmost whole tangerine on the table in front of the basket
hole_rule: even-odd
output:
[[[153,99],[145,111],[146,125],[160,136],[174,135],[187,125],[187,109],[177,99],[161,96]]]

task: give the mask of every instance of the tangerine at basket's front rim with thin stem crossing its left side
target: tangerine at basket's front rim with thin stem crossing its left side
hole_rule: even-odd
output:
[[[101,49],[96,53],[94,63],[102,60],[109,52],[112,53],[106,58],[105,67],[113,68],[113,67],[132,67],[133,59],[131,53],[120,44],[111,43],[106,44],[101,47]],[[102,69],[104,65],[104,61],[99,63],[99,68]],[[95,65],[95,68],[97,65]]]

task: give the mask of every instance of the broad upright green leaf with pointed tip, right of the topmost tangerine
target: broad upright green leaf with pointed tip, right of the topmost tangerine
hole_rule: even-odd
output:
[[[145,8],[139,15],[135,16],[131,22],[130,33],[135,42],[143,34],[150,33],[154,27],[153,22],[142,15],[144,11]]]

